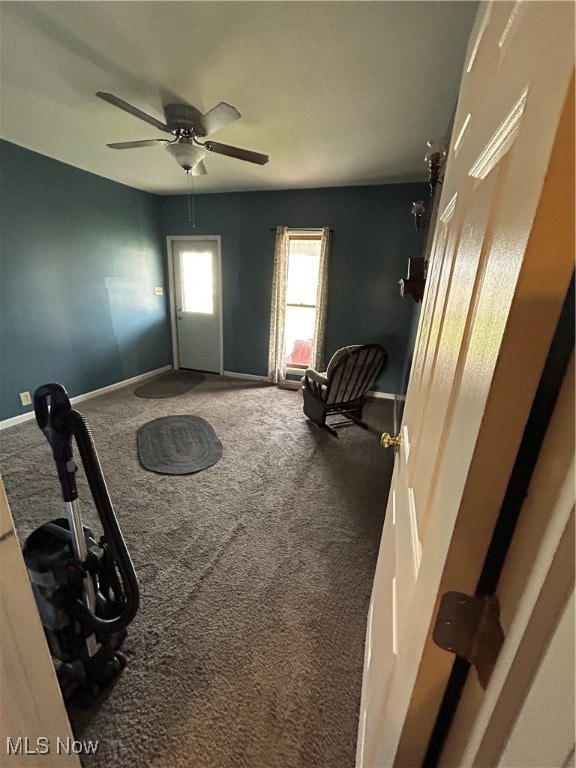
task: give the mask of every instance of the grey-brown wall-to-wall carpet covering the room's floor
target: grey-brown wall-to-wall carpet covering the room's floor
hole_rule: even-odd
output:
[[[100,741],[86,768],[351,768],[391,452],[356,426],[318,429],[299,392],[211,376],[177,401],[126,388],[78,409],[142,592],[116,687],[70,710],[76,738]],[[175,412],[222,439],[209,471],[139,465],[138,427]],[[390,401],[365,416],[391,431]],[[0,433],[0,470],[22,540],[62,515],[35,423]]]

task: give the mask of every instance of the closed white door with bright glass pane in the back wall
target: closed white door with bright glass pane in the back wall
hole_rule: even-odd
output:
[[[222,373],[220,238],[169,238],[175,364]]]

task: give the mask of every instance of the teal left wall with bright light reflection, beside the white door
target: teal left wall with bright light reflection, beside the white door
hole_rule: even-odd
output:
[[[0,418],[171,363],[158,198],[0,143]]]

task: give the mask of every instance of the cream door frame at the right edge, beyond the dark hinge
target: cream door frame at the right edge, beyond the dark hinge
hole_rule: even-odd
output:
[[[468,674],[440,766],[551,768],[573,754],[574,410],[572,355],[495,591],[505,641],[485,691]]]

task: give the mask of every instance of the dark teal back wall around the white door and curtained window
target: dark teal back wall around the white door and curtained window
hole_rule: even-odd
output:
[[[243,192],[160,202],[164,235],[221,235],[224,367],[265,376],[275,228],[329,226],[326,357],[347,344],[380,342],[389,363],[377,389],[399,392],[415,304],[400,297],[408,258],[421,255],[410,215],[426,184]]]

